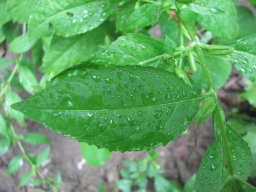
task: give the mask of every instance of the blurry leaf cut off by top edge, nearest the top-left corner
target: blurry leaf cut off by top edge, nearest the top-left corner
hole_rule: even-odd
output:
[[[37,11],[37,2],[34,0],[8,0],[7,6],[13,20],[23,24],[28,22],[30,15]]]

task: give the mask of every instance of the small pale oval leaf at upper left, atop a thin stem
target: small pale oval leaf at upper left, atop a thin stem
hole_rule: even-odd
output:
[[[36,40],[35,38],[30,38],[28,34],[24,34],[16,37],[11,42],[9,49],[13,53],[25,53],[35,44]]]

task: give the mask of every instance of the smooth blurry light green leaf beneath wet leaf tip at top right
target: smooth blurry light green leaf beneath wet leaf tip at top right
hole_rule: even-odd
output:
[[[238,35],[237,11],[232,0],[215,0],[223,14],[198,15],[197,21],[206,30],[219,37],[235,39]]]

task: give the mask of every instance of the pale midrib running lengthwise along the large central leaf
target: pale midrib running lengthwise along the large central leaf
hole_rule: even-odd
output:
[[[49,108],[37,108],[34,106],[14,106],[14,109],[16,108],[29,108],[29,109],[37,109],[37,110],[41,110],[41,111],[84,111],[84,112],[90,112],[90,111],[117,111],[117,110],[134,110],[134,109],[146,109],[146,108],[154,108],[154,107],[158,107],[158,106],[165,106],[165,105],[170,105],[170,104],[177,104],[177,103],[182,103],[182,102],[186,102],[186,101],[191,101],[191,100],[197,100],[197,99],[203,99],[206,98],[207,95],[202,95],[196,98],[191,98],[191,99],[186,99],[186,100],[181,100],[181,101],[175,101],[175,102],[171,102],[171,103],[164,103],[164,104],[158,104],[158,105],[151,105],[151,106],[140,106],[140,107],[135,107],[135,108],[123,108],[123,109],[100,109],[100,110],[70,110],[70,109],[66,109],[66,110],[59,110],[59,109],[49,109]]]

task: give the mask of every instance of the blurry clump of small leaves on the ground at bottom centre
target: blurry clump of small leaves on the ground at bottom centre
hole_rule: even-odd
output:
[[[139,161],[123,160],[122,164],[126,168],[120,169],[120,179],[117,187],[123,192],[130,192],[137,188],[136,192],[146,191],[148,179],[154,179],[154,188],[157,192],[182,191],[179,183],[168,181],[161,174],[164,170],[157,163],[157,153],[154,150],[148,152],[148,156]]]

